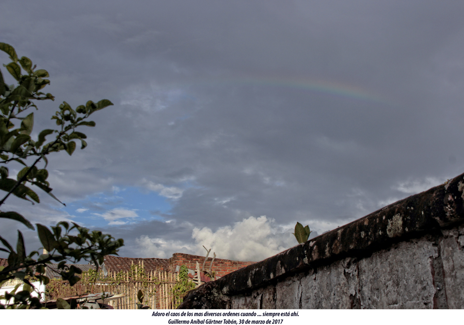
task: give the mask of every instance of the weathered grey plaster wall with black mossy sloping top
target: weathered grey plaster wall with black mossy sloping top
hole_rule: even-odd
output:
[[[464,308],[464,174],[208,282],[180,308]]]

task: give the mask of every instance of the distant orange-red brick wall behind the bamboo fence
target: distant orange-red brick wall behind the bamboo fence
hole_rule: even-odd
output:
[[[209,268],[211,264],[212,257],[208,257],[206,260],[205,268]],[[190,255],[184,253],[174,253],[173,257],[168,260],[169,263],[169,272],[174,272],[176,266],[186,265],[187,268],[194,270],[196,268],[196,262],[200,264],[200,269],[203,266],[203,261],[205,261],[204,256],[197,256],[197,255]],[[229,274],[233,271],[238,270],[239,268],[244,268],[245,266],[254,264],[256,262],[248,261],[231,261],[231,260],[223,260],[220,258],[215,258],[213,267],[211,268],[212,271],[216,272],[216,276],[221,277],[226,274]]]

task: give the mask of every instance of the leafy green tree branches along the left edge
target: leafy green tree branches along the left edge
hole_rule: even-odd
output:
[[[52,194],[52,188],[47,181],[48,155],[65,151],[71,156],[77,147],[76,140],[80,141],[81,149],[84,149],[87,146],[84,139],[87,137],[77,131],[77,128],[80,130],[84,126],[94,127],[95,122],[88,121],[89,116],[113,103],[107,99],[97,103],[88,101],[85,105],[73,109],[67,102],[63,102],[52,116],[58,129],[42,130],[36,139],[32,139],[34,112],[31,110],[33,108],[38,110],[35,102],[54,100],[52,94],[42,92],[42,89],[50,84],[50,80],[46,79],[49,74],[44,69],[36,69],[37,66],[32,64],[31,59],[18,58],[11,45],[0,43],[0,50],[12,61],[4,64],[4,67],[17,82],[16,86],[7,85],[0,69],[0,190],[6,192],[0,200],[0,206],[10,195],[32,204],[39,203],[39,195],[34,191],[36,188],[45,191],[61,203]],[[48,142],[47,137],[49,137]],[[7,166],[10,164],[23,166],[16,179],[9,177]],[[0,211],[0,218],[16,220],[29,229],[35,229],[29,220],[16,211]],[[6,305],[0,304],[0,309],[41,308],[39,298],[31,295],[33,289],[28,277],[35,277],[42,283],[48,283],[49,279],[45,276],[47,262],[58,262],[59,274],[72,286],[80,280],[77,274],[80,274],[81,270],[72,265],[65,266],[67,261],[73,263],[81,260],[92,261],[98,268],[98,265],[103,263],[104,255],[116,254],[124,243],[122,239],[116,240],[101,231],[90,231],[76,223],[59,222],[51,229],[38,223],[36,227],[39,240],[47,251],[46,254],[39,254],[38,251],[27,254],[24,236],[20,230],[18,230],[16,250],[0,236],[0,242],[3,244],[0,250],[8,253],[8,265],[0,267],[0,287],[7,280],[15,278],[25,284],[23,290],[19,292],[17,287],[0,296],[0,299],[7,301]],[[13,302],[9,303],[10,300]]]

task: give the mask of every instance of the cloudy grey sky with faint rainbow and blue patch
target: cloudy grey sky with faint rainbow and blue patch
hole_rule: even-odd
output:
[[[123,238],[125,257],[275,255],[296,222],[321,235],[464,171],[463,16],[447,0],[2,1],[0,42],[56,97],[32,135],[63,101],[114,103],[80,130],[88,147],[49,157],[66,207],[38,192],[2,210]]]

